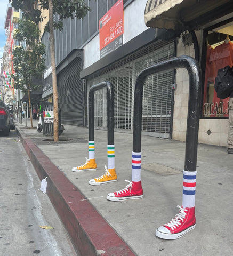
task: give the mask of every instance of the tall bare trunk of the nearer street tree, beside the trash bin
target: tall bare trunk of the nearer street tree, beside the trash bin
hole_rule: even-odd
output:
[[[49,0],[49,26],[50,26],[50,54],[52,66],[52,83],[53,83],[53,140],[59,141],[58,137],[58,89],[57,89],[57,74],[55,62],[55,44],[53,34],[53,1]]]

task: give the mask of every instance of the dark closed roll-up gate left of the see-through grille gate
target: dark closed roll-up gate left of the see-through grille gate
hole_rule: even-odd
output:
[[[81,58],[75,58],[58,74],[61,123],[83,127],[83,83]]]

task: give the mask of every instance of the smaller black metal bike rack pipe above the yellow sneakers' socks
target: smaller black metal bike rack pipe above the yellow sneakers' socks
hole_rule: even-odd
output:
[[[89,141],[94,141],[94,93],[97,90],[107,89],[107,126],[108,144],[114,144],[114,90],[113,85],[106,81],[95,84],[89,91]]]

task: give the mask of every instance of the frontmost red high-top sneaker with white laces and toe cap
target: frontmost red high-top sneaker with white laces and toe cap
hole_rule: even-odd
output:
[[[178,239],[196,227],[195,207],[182,208],[175,218],[157,228],[155,235],[163,239]]]

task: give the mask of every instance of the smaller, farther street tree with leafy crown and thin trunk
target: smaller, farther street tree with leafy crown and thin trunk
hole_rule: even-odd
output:
[[[30,91],[41,89],[41,85],[33,83],[33,78],[42,79],[42,74],[46,70],[45,58],[43,57],[45,55],[45,45],[39,42],[39,37],[40,32],[36,23],[30,19],[22,18],[18,29],[14,32],[14,39],[21,42],[21,44],[25,44],[25,47],[18,46],[12,50],[14,87],[28,94],[32,128]]]

